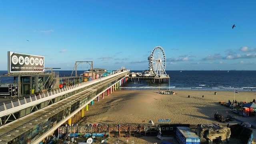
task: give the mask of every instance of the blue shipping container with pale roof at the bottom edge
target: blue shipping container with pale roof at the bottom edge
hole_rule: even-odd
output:
[[[180,144],[200,144],[200,138],[189,127],[178,126],[176,139]]]

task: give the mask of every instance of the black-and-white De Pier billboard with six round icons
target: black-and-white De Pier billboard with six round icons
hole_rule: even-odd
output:
[[[8,73],[43,71],[44,56],[8,52]]]

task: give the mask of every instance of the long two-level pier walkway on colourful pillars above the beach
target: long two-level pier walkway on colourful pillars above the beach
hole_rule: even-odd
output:
[[[78,112],[126,82],[129,70],[0,105],[0,144],[45,143]],[[56,136],[56,135],[55,135]]]

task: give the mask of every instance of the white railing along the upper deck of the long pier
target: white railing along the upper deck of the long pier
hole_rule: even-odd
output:
[[[127,71],[124,71],[124,72],[127,72]],[[119,74],[122,74],[124,72],[120,72]],[[113,75],[109,75],[109,76],[113,77],[114,74]],[[118,76],[118,74],[117,74],[117,76]],[[110,77],[108,77],[108,78],[110,78]],[[33,102],[33,101],[36,101],[36,100],[39,100],[39,99],[42,99],[42,98],[45,98],[45,97],[48,97],[48,96],[52,96],[54,94],[58,94],[60,92],[64,92],[64,91],[67,91],[67,90],[78,88],[80,86],[84,86],[86,84],[97,82],[97,81],[100,81],[100,79],[98,78],[98,79],[90,80],[90,81],[87,81],[87,82],[82,82],[82,83],[79,83],[79,84],[74,84],[72,86],[68,86],[68,88],[66,87],[67,89],[66,88],[58,88],[58,89],[52,90],[50,92],[46,91],[46,92],[43,92],[42,94],[39,94],[38,96],[36,96],[34,94],[33,96],[29,96],[28,98],[24,98],[24,100],[20,100],[20,102],[18,102],[18,101],[13,102],[12,100],[10,100],[10,103],[7,103],[7,104],[5,102],[3,102],[3,105],[0,106],[0,112],[4,111],[4,110],[8,110],[10,108],[14,108],[16,106],[22,106],[23,104],[27,104],[29,102]]]

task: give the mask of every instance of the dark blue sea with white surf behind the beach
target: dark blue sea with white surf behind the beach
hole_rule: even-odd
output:
[[[71,76],[72,70],[59,70],[60,77]],[[84,70],[78,70],[82,74]],[[142,70],[130,70],[142,72]],[[0,83],[13,83],[13,77],[1,76]],[[144,80],[128,81],[120,90],[214,90],[214,91],[256,91],[255,70],[166,70],[168,83],[147,83]],[[74,76],[74,72],[73,72]]]

